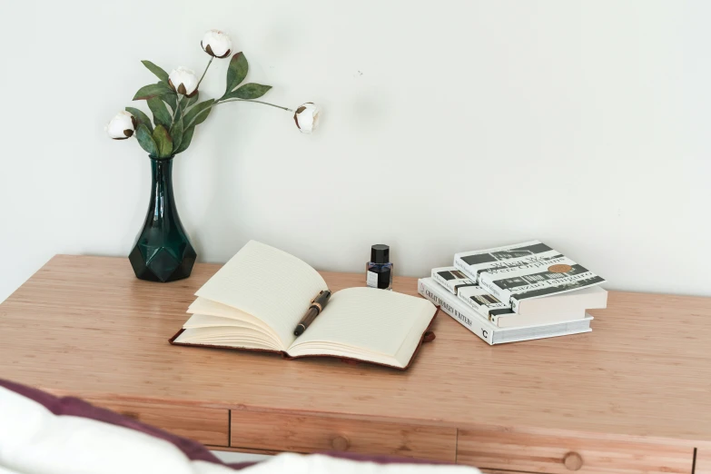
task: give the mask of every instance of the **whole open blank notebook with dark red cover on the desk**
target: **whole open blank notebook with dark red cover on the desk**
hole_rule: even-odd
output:
[[[288,357],[332,356],[406,369],[437,313],[430,301],[394,291],[336,291],[301,336],[293,334],[311,300],[328,290],[319,272],[289,253],[248,242],[212,276],[171,343]]]

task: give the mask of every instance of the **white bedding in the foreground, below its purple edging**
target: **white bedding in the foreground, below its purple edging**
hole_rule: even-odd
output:
[[[221,474],[236,471],[191,460],[173,443],[103,421],[54,415],[0,387],[0,474]],[[476,474],[464,466],[376,464],[284,453],[244,474]]]

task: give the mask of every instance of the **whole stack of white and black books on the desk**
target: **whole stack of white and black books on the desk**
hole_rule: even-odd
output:
[[[605,280],[545,243],[461,252],[419,281],[434,302],[489,344],[592,331],[587,311],[607,307]]]

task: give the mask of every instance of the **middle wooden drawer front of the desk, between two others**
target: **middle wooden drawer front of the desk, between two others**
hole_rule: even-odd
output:
[[[457,430],[232,410],[231,446],[294,452],[347,451],[454,462]]]

